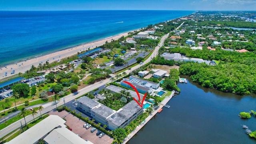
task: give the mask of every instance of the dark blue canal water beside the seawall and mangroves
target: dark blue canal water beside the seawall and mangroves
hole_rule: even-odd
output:
[[[256,130],[256,118],[239,118],[256,111],[256,96],[239,96],[203,88],[190,78],[181,92],[144,126],[128,144],[256,144],[241,125]]]

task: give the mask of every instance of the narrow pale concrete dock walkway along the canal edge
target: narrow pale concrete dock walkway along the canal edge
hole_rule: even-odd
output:
[[[172,94],[170,94],[170,96],[166,96],[166,98],[164,98],[164,100],[158,105],[159,108],[157,110],[154,110],[151,114],[149,114],[149,116],[142,123],[140,123],[140,125],[138,125],[130,134],[126,136],[126,138],[124,138],[123,144],[126,144],[126,142],[130,140],[130,138],[132,138],[149,120],[151,120],[158,113],[158,110],[163,108],[164,105],[166,105],[169,102],[173,95],[174,91],[172,91]]]

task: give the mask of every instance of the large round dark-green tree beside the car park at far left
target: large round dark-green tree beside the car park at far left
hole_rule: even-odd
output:
[[[27,97],[30,92],[28,84],[14,84],[12,90],[13,92],[18,93],[21,97]]]

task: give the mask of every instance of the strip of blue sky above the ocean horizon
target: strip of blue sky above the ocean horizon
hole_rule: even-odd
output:
[[[256,0],[0,0],[0,10],[256,10]]]

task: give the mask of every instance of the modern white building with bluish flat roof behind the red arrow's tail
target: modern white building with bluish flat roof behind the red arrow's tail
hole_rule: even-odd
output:
[[[126,84],[124,81],[130,82],[140,93],[148,92],[151,94],[153,89],[158,89],[160,87],[160,83],[157,84],[155,82],[150,82],[136,76],[130,76],[129,79],[123,79],[120,83],[122,86],[131,88],[131,86]]]

